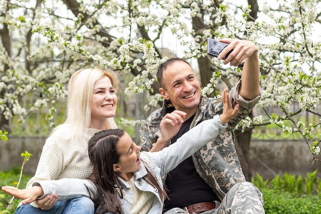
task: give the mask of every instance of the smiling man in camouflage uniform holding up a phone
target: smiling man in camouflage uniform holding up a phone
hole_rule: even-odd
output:
[[[165,201],[163,213],[265,213],[262,193],[245,180],[233,132],[260,99],[258,49],[250,41],[222,42],[229,45],[219,54],[219,60],[233,49],[224,64],[237,66],[245,60],[242,79],[229,93],[233,108],[236,104],[240,106],[238,115],[218,137],[167,175],[164,180],[170,200]],[[194,71],[185,60],[175,58],[163,63],[157,79],[165,102],[141,126],[142,150],[158,151],[174,143],[188,129],[222,113],[222,102],[201,95]],[[173,123],[182,120],[175,113],[177,110],[186,112],[185,122],[171,142],[161,142],[159,124],[165,119]]]

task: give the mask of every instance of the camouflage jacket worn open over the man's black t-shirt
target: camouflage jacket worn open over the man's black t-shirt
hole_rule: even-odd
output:
[[[230,100],[233,107],[240,105],[238,115],[228,123],[228,127],[220,132],[218,137],[207,143],[192,155],[193,162],[200,177],[213,189],[218,198],[222,200],[227,191],[238,182],[245,181],[245,177],[240,166],[235,145],[234,128],[240,120],[246,118],[260,99],[260,95],[251,101],[244,100],[238,94],[240,81],[236,87],[230,91]],[[163,108],[152,112],[147,120],[142,124],[141,148],[149,151],[153,143],[160,135],[159,123],[167,113],[166,109],[172,107],[168,101],[164,102]],[[213,98],[201,96],[199,108],[190,128],[198,123],[212,119],[215,114],[223,112],[223,102],[218,102]],[[197,138],[197,136],[195,136]]]

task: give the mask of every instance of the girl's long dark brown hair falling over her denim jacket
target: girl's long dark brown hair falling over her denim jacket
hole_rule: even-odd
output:
[[[103,206],[102,213],[124,213],[122,204],[117,198],[117,196],[123,198],[122,186],[117,180],[120,172],[115,172],[113,169],[113,165],[119,162],[117,143],[124,133],[125,131],[122,129],[99,131],[93,135],[88,143],[88,154],[93,168],[89,180],[97,186],[98,190],[97,196],[94,197],[93,201],[96,208],[101,206],[99,210]],[[146,166],[145,162],[143,164]],[[146,166],[147,175],[143,179],[157,188],[160,198],[164,200],[167,197],[166,192],[148,168]]]

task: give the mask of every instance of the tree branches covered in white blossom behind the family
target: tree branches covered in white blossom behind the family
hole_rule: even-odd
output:
[[[70,75],[89,66],[133,74],[125,93],[148,91],[145,110],[155,108],[162,100],[155,72],[171,41],[180,47],[175,54],[197,62],[203,93],[219,98],[217,83],[231,88],[242,69],[208,56],[206,41],[232,37],[259,47],[257,108],[264,110],[239,124],[236,131],[245,136],[240,147],[248,147],[253,128],[275,124],[302,135],[318,160],[320,135],[313,136],[320,121],[306,124],[298,115],[320,116],[321,1],[3,0],[0,8],[3,131],[13,115],[23,121],[44,106],[54,125],[55,102],[65,98]],[[26,108],[22,98],[30,94]]]

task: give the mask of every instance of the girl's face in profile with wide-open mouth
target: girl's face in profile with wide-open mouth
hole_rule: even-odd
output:
[[[119,177],[129,181],[133,172],[141,168],[141,147],[137,146],[127,132],[123,134],[116,145],[119,162],[114,164],[114,171],[120,172]]]

